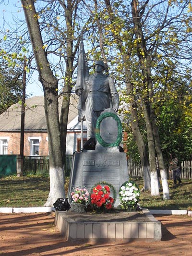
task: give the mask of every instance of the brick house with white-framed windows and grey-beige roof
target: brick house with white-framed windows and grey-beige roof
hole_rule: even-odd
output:
[[[59,112],[62,97],[59,98]],[[48,156],[48,133],[44,111],[44,97],[26,99],[24,126],[24,155]],[[79,150],[81,125],[78,122],[77,98],[72,95],[67,126],[66,154]],[[0,155],[20,154],[21,105],[12,105],[0,115]],[[86,126],[84,122],[84,140]]]

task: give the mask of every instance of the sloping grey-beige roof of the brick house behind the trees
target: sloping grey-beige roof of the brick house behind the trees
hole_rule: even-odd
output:
[[[70,108],[68,124],[78,116],[77,110],[78,98],[72,94],[70,99]],[[26,99],[25,106],[25,124],[24,130],[39,132],[47,131],[44,96],[35,96]],[[62,105],[62,97],[59,98],[59,113]],[[75,119],[77,122],[78,120]],[[0,115],[0,131],[20,131],[21,130],[21,104],[13,104],[8,110]],[[75,129],[76,130],[76,129]]]

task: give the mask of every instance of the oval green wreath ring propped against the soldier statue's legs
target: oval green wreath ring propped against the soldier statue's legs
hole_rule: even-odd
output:
[[[100,134],[100,124],[101,121],[106,118],[106,117],[112,117],[118,124],[118,134],[117,134],[117,139],[113,143],[107,143],[103,140]],[[111,112],[106,112],[100,115],[96,121],[96,140],[104,147],[113,147],[113,146],[120,146],[120,142],[122,140],[122,124],[120,122],[119,117]]]

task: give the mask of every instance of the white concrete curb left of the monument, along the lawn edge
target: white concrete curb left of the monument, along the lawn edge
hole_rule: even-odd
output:
[[[0,213],[35,213],[35,212],[51,212],[55,211],[54,207],[1,207]]]

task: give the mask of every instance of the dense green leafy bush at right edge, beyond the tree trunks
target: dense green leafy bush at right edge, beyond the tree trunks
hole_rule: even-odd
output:
[[[169,153],[174,152],[180,158],[192,157],[192,90],[189,81],[174,77],[156,91],[154,107],[165,162]],[[173,77],[172,77],[173,79]],[[162,91],[164,91],[162,97]]]

